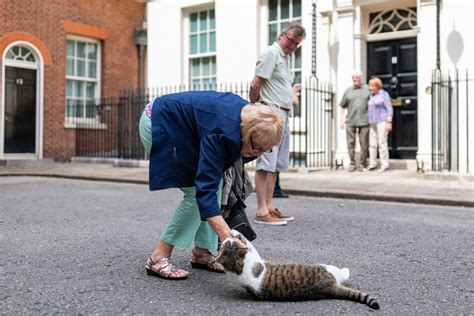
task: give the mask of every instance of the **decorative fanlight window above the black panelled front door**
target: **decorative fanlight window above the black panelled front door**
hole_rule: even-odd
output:
[[[412,30],[416,19],[416,8],[374,12],[369,17],[369,34]]]

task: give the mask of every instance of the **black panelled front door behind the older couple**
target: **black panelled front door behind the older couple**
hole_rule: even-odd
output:
[[[367,75],[379,77],[392,97],[390,158],[412,159],[417,151],[416,38],[367,44]]]

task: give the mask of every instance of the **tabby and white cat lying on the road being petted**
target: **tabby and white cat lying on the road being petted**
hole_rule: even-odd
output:
[[[349,269],[332,265],[272,264],[265,262],[253,245],[233,230],[243,244],[228,238],[223,241],[217,262],[224,266],[235,283],[263,300],[345,299],[379,309],[377,301],[342,283]]]

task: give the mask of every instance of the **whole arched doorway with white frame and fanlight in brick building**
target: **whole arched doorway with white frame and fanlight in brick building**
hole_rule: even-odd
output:
[[[3,57],[3,107],[0,154],[40,156],[40,58],[33,48],[15,43]]]

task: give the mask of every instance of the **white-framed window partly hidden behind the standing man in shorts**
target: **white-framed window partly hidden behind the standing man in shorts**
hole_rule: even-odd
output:
[[[268,44],[271,45],[290,22],[301,23],[301,0],[270,0],[268,9]],[[294,83],[301,83],[301,47],[291,56],[290,68]],[[300,116],[300,109],[294,109],[295,116]]]

